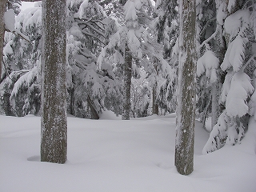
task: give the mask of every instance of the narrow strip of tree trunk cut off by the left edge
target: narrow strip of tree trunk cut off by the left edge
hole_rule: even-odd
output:
[[[3,41],[5,37],[5,23],[4,23],[4,14],[6,11],[6,0],[0,1],[0,80],[2,78],[2,50],[3,50]]]

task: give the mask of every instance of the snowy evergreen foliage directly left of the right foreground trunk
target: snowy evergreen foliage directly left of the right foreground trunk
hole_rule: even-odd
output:
[[[162,66],[161,60],[156,59],[155,69],[158,73],[158,83],[154,86],[156,91],[153,92],[156,92],[156,102],[164,114],[174,113],[176,110],[175,93],[178,76],[178,51],[175,51],[175,42],[178,37],[177,7],[177,1],[158,0],[155,4],[155,33],[157,42],[163,44],[162,57],[168,65]],[[168,70],[165,71],[166,69]]]

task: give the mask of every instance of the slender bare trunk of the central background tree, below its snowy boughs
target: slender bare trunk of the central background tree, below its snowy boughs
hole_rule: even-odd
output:
[[[131,83],[131,66],[132,66],[132,54],[129,46],[126,44],[124,64],[124,79],[123,79],[123,99],[122,99],[122,120],[130,119],[130,83]]]

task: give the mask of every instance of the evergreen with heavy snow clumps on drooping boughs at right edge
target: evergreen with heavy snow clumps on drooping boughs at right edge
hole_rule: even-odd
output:
[[[255,2],[218,2],[217,20],[223,26],[227,50],[221,69],[226,72],[221,101],[226,106],[210,133],[203,153],[225,144],[240,142],[248,129],[254,109],[255,78]],[[250,99],[251,98],[251,99]]]

